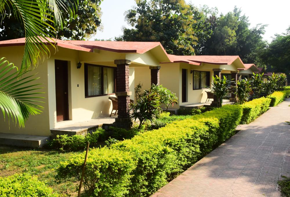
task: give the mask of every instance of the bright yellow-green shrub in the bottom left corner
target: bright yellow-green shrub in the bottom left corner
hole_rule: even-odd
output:
[[[47,196],[57,197],[52,188],[29,174],[0,177],[0,196]]]

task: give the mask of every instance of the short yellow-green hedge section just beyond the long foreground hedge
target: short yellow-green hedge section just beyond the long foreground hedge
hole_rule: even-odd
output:
[[[241,124],[249,124],[255,120],[258,116],[265,113],[269,109],[271,99],[269,98],[256,98],[252,101],[244,103],[243,107],[243,116]]]

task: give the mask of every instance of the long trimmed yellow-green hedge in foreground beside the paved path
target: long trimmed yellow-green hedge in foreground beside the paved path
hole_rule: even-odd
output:
[[[175,121],[107,147],[91,149],[84,179],[89,195],[149,196],[235,132],[240,105]],[[59,178],[80,178],[84,155],[61,162]]]

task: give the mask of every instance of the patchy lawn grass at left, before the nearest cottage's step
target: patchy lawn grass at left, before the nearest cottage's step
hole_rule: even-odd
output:
[[[68,159],[74,153],[0,146],[0,176],[26,172],[37,175],[39,180],[44,181],[61,196],[76,196],[79,182],[75,179],[57,182],[55,179],[55,169],[59,162]]]

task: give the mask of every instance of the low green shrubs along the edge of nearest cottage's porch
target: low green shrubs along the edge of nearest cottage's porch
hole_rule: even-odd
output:
[[[106,139],[105,130],[102,128],[97,129],[92,134],[84,135],[57,135],[55,139],[48,142],[46,147],[59,150],[77,151],[84,149],[86,143],[90,142],[90,147],[94,147],[98,142]]]

